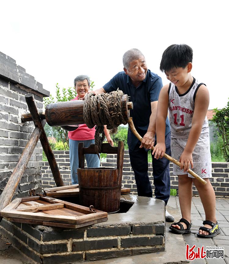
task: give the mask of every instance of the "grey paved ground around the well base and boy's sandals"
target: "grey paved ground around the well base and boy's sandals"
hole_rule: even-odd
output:
[[[170,197],[167,210],[174,215],[175,220],[181,218],[178,197]],[[128,264],[164,264],[188,263],[185,261],[185,244],[197,247],[218,246],[224,247],[224,259],[199,259],[190,261],[191,264],[229,264],[229,199],[216,199],[216,215],[221,233],[213,239],[198,238],[196,233],[205,220],[202,203],[199,197],[192,199],[192,233],[176,235],[169,231],[170,223],[166,223],[165,252],[144,254],[132,257],[96,261],[90,263],[128,263]],[[18,253],[7,241],[0,238],[0,264],[31,264],[31,262]],[[72,263],[73,264],[73,263]]]

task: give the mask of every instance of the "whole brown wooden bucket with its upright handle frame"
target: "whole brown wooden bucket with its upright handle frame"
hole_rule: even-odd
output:
[[[118,147],[108,143],[102,144],[102,153],[117,153],[117,168],[84,168],[84,154],[95,154],[95,146],[84,148],[83,143],[78,145],[79,168],[79,199],[80,204],[107,212],[118,212],[122,188],[122,167],[124,143],[118,142]]]

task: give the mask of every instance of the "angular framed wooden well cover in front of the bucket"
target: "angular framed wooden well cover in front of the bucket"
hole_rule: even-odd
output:
[[[107,221],[107,212],[51,197],[16,198],[0,213],[11,222],[79,228]]]

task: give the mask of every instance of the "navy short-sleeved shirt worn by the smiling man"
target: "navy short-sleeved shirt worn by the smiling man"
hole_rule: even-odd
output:
[[[123,93],[129,96],[129,101],[133,102],[133,110],[130,110],[130,116],[133,118],[137,132],[143,137],[149,126],[151,102],[158,101],[162,86],[162,78],[147,70],[146,78],[137,88],[132,84],[131,78],[124,71],[116,74],[103,88],[106,92],[116,91],[119,88],[119,90],[122,90]],[[167,117],[165,135],[169,132],[170,126]],[[128,129],[127,143],[129,148],[134,149],[138,141],[132,131]]]

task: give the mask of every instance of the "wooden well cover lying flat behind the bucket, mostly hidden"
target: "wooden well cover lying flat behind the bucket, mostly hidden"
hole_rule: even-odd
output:
[[[70,185],[70,186],[60,186],[60,187],[53,187],[53,188],[44,188],[44,193],[46,196],[51,197],[74,197],[79,196],[79,188],[78,184]],[[122,188],[121,194],[128,194],[130,193],[129,188]]]

